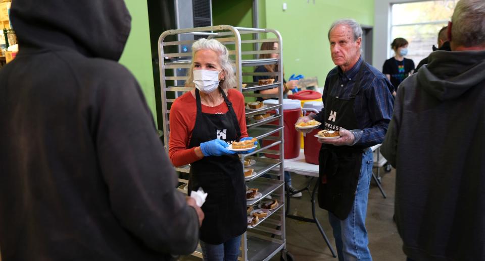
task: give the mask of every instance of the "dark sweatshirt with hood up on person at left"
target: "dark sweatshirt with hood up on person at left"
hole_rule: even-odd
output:
[[[131,73],[122,0],[15,0],[20,51],[0,70],[2,260],[165,260],[196,211]]]

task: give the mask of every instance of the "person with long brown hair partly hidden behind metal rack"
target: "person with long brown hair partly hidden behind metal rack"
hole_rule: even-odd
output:
[[[261,44],[261,50],[266,51],[266,50],[278,50],[278,43],[277,42],[264,42]],[[263,53],[259,55],[260,59],[267,59],[267,58],[273,58],[277,59],[278,53]],[[276,67],[276,64],[266,64],[265,66],[258,66],[254,70],[255,73],[274,73],[278,72],[278,68]],[[283,72],[283,77],[284,77],[284,72]],[[255,75],[253,76],[253,82],[258,83],[259,80],[264,80],[264,79],[274,79],[274,82],[278,81],[278,76],[268,76],[268,75]],[[287,97],[287,92],[289,90],[294,90],[295,88],[298,87],[298,81],[297,80],[291,80],[286,82],[286,80],[283,78],[283,96],[284,98]],[[271,88],[271,89],[266,89],[262,91],[255,91],[255,93],[261,93],[261,94],[278,94],[279,93],[279,87],[276,88]],[[277,99],[277,98],[269,98],[269,99]],[[265,98],[258,97],[256,98],[256,101],[263,101]],[[292,185],[292,175],[289,173],[289,171],[284,172],[284,182],[286,183],[286,186],[288,188],[288,191],[290,194],[292,194],[293,198],[301,198],[302,197],[302,192],[298,191],[296,188],[293,187]]]

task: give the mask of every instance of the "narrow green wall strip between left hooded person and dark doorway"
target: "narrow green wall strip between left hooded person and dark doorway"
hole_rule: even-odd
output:
[[[155,90],[153,84],[150,29],[146,1],[125,0],[131,14],[131,32],[120,63],[126,66],[141,86],[148,106],[156,115]],[[154,117],[157,121],[157,117]]]

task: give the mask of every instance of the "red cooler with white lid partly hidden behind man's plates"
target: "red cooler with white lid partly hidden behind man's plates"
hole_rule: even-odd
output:
[[[309,115],[311,112],[318,113],[319,111],[321,111],[321,109],[323,108],[323,102],[308,102],[308,104],[305,103],[304,106],[305,108],[303,108],[303,111],[305,115]],[[318,165],[318,155],[320,153],[320,148],[322,147],[322,144],[318,142],[318,138],[315,137],[315,135],[317,135],[320,130],[321,129],[316,128],[303,137],[305,143],[305,161],[311,164]]]

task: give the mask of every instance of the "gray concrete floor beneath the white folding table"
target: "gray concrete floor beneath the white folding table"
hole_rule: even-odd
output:
[[[393,222],[395,169],[389,173],[381,171],[381,177],[382,187],[387,194],[386,199],[382,197],[374,180],[371,180],[370,184],[366,219],[370,252],[375,261],[404,261],[406,256],[402,251],[402,241]],[[295,188],[303,187],[308,180],[305,176],[292,174],[292,182]],[[289,213],[311,218],[310,199],[311,195],[306,191],[303,192],[302,198],[292,198]],[[317,203],[316,213],[323,230],[335,249],[327,211],[318,208]],[[330,249],[328,249],[325,240],[314,223],[287,218],[286,245],[288,251],[295,257],[295,260],[338,260],[332,257]],[[200,260],[193,256],[183,256],[180,259],[184,261]],[[271,261],[277,260],[280,260],[279,254],[271,258]]]

